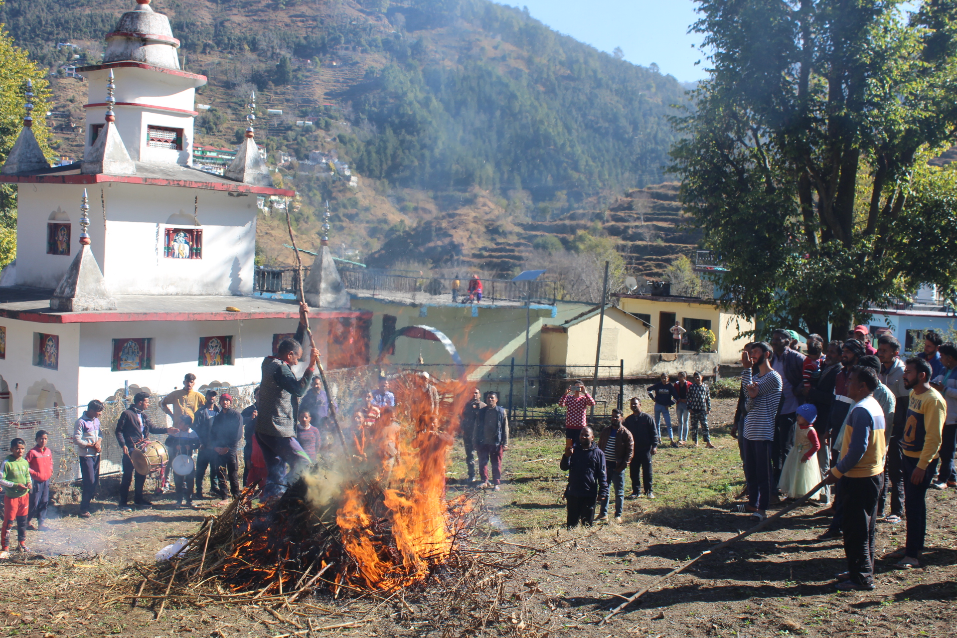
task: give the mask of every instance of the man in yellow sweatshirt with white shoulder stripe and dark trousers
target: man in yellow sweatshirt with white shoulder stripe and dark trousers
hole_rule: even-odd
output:
[[[907,520],[907,541],[903,551],[891,552],[885,561],[899,561],[896,567],[921,566],[924,534],[927,528],[927,506],[924,495],[937,473],[941,432],[947,405],[941,393],[930,386],[930,363],[908,359],[903,368],[903,386],[910,390],[907,419],[903,426],[903,509]]]

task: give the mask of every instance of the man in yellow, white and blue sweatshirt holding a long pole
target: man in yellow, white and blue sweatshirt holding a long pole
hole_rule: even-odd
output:
[[[874,589],[874,539],[887,455],[884,410],[874,398],[878,385],[874,368],[851,368],[845,391],[855,403],[845,420],[837,465],[827,476],[830,484],[840,482],[844,500],[841,531],[847,571],[837,575],[838,591]]]

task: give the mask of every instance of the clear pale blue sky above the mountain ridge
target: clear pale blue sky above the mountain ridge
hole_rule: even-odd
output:
[[[701,52],[692,44],[701,35],[687,33],[698,15],[692,0],[499,0],[503,5],[528,7],[532,17],[601,51],[621,47],[625,59],[648,66],[657,63],[663,74],[680,81],[705,77]]]

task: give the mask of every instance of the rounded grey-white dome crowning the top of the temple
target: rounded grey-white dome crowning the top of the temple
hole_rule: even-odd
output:
[[[178,70],[180,42],[173,37],[169,18],[153,11],[149,0],[137,3],[137,8],[123,13],[116,29],[106,34],[103,63],[133,61]]]

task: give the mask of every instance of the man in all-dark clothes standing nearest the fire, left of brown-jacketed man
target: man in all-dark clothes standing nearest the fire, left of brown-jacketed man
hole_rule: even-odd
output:
[[[595,447],[595,435],[586,426],[578,436],[578,445],[566,449],[559,467],[568,472],[566,490],[566,508],[568,529],[582,525],[591,526],[595,516],[595,502],[598,497],[608,495],[608,477],[606,475],[605,453]]]

